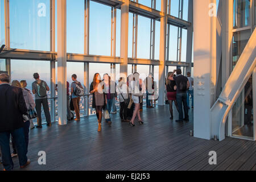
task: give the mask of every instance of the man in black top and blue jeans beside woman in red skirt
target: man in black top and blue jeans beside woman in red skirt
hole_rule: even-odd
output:
[[[177,95],[176,95],[176,100],[177,100],[177,105],[178,105],[178,111],[179,111],[179,119],[176,120],[176,122],[188,122],[188,104],[187,104],[187,90],[190,86],[188,78],[181,75],[181,69],[174,70],[172,75],[177,72],[177,76],[175,77],[170,77],[170,80],[174,80],[177,85]],[[182,109],[182,104],[184,107],[184,113],[185,113],[185,118],[183,119],[183,109]]]

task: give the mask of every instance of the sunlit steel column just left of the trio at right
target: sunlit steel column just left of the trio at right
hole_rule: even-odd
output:
[[[162,0],[161,11],[164,16],[160,19],[160,48],[159,48],[159,99],[158,105],[165,105],[164,85],[166,81],[166,28],[167,28],[167,0]]]

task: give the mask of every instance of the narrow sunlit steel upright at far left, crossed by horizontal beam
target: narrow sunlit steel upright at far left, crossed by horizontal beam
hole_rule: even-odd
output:
[[[10,49],[10,2],[5,0],[5,47]],[[6,71],[11,80],[11,60],[6,59]]]

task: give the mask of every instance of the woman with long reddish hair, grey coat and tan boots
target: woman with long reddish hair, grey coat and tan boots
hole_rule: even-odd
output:
[[[105,105],[104,86],[101,86],[101,76],[99,73],[95,73],[93,76],[93,82],[90,84],[90,94],[93,94],[92,107],[96,110],[98,118],[98,131],[101,131],[101,119],[102,110]]]

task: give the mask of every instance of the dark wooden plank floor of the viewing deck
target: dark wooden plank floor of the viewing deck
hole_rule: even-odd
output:
[[[188,123],[171,121],[168,106],[144,108],[144,125],[136,123],[135,127],[121,123],[118,114],[113,117],[111,127],[102,123],[101,133],[97,132],[96,116],[66,126],[54,123],[31,130],[31,164],[23,170],[256,169],[256,142],[234,138],[218,142],[189,136],[193,129],[191,110]],[[38,164],[39,151],[46,151],[46,165]],[[209,165],[209,151],[217,152],[217,165]],[[20,170],[17,158],[14,164],[15,170]]]

